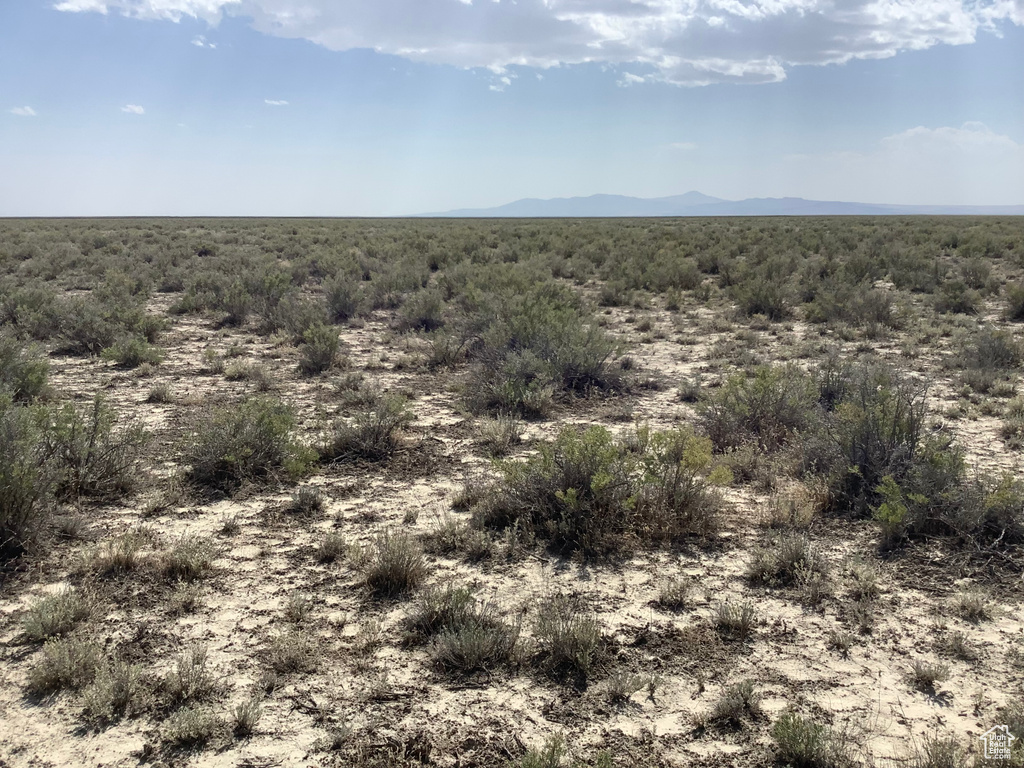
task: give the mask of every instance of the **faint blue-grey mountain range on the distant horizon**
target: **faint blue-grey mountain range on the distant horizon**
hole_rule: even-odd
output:
[[[585,218],[592,216],[1024,216],[1021,206],[892,206],[803,198],[722,200],[697,191],[669,198],[525,198],[497,208],[464,208],[421,216],[452,218]]]

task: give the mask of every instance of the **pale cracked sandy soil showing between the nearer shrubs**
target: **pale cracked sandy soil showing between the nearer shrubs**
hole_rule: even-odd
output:
[[[175,299],[160,295],[153,311]],[[602,315],[607,328],[627,341],[639,370],[660,382],[629,398],[578,402],[555,418],[529,423],[515,456],[525,456],[538,439],[550,438],[564,423],[602,423],[615,431],[634,421],[666,427],[691,422],[691,406],[680,401],[684,378],[712,381],[726,373],[723,349],[732,345],[758,359],[794,359],[809,365],[807,348],[823,343],[818,330],[801,323],[768,330],[716,324],[711,310],[670,313],[612,309]],[[639,332],[638,318],[651,329]],[[346,327],[341,338],[348,371],[362,371],[384,390],[412,395],[416,420],[402,436],[399,454],[386,466],[336,465],[308,480],[326,495],[325,513],[315,520],[294,520],[276,513],[293,488],[253,489],[228,501],[206,503],[175,499],[168,486],[176,471],[173,449],[197,410],[236,401],[252,393],[247,381],[226,381],[211,373],[203,351],[234,347],[238,359],[265,367],[272,394],[300,415],[311,439],[337,408],[335,380],[345,372],[301,379],[296,350],[275,345],[252,329],[217,330],[209,318],[174,317],[162,338],[166,360],[151,375],[120,371],[97,359],[53,357],[51,382],[61,397],[82,402],[101,392],[123,415],[140,420],[152,433],[141,493],[121,506],[83,509],[92,541],[60,544],[30,569],[8,581],[0,594],[0,766],[134,766],[140,762],[203,766],[348,765],[347,758],[324,751],[324,739],[338,729],[374,749],[429,744],[426,764],[501,765],[516,759],[522,745],[536,746],[564,733],[570,752],[591,759],[608,749],[614,765],[762,765],[771,762],[770,725],[786,709],[815,717],[845,731],[865,763],[904,761],[927,737],[952,734],[965,746],[998,724],[998,708],[1020,696],[1024,666],[1024,616],[1019,580],[986,579],[966,559],[950,557],[936,545],[912,555],[880,559],[870,523],[815,519],[809,532],[827,559],[829,594],[818,605],[803,605],[792,589],[754,587],[744,578],[752,547],[771,535],[762,525],[771,488],[753,482],[724,492],[724,526],[707,546],[679,551],[640,551],[611,565],[581,565],[534,549],[515,561],[493,558],[479,563],[428,554],[429,583],[458,580],[474,585],[510,621],[525,612],[529,634],[531,606],[545,596],[578,596],[596,613],[610,648],[607,669],[656,676],[646,690],[626,702],[611,703],[604,676],[581,691],[558,685],[528,666],[503,669],[469,680],[446,678],[430,664],[422,646],[402,643],[410,601],[375,602],[358,586],[347,561],[322,564],[314,549],[329,531],[350,544],[365,544],[385,528],[428,537],[454,512],[451,500],[462,481],[490,473],[478,439],[478,423],[460,403],[460,374],[433,373],[422,362],[422,342],[396,337],[389,318],[379,314],[361,327]],[[828,340],[834,343],[835,340]],[[969,461],[987,472],[1019,473],[1019,456],[997,436],[998,418],[974,414],[950,420],[941,414],[957,402],[949,372],[936,365],[943,349],[908,358],[905,338],[848,342],[849,354],[865,343],[874,352],[939,377],[932,388],[933,411],[942,428],[955,430]],[[230,365],[233,359],[227,359]],[[945,379],[941,377],[945,377]],[[167,384],[170,403],[146,402],[151,388]],[[784,490],[780,481],[776,490]],[[154,502],[169,498],[170,506]],[[223,532],[224,523],[237,532]],[[163,753],[160,723],[148,715],[101,730],[83,727],[72,694],[43,700],[24,693],[28,670],[39,647],[20,641],[19,618],[40,596],[61,585],[87,589],[79,560],[97,542],[145,526],[154,549],[185,534],[209,537],[218,554],[213,573],[201,582],[196,610],[175,615],[167,590],[144,573],[103,585],[101,610],[90,627],[104,646],[131,651],[155,674],[173,665],[190,644],[208,649],[220,681],[211,706],[226,715],[252,695],[266,669],[264,649],[271,638],[290,631],[287,602],[302,595],[311,612],[300,631],[317,647],[315,669],[282,676],[262,699],[256,732],[212,749]],[[848,569],[863,560],[879,572],[873,628],[857,631],[851,615]],[[691,580],[692,600],[682,610],[657,605],[670,578]],[[953,610],[955,595],[978,582],[991,595],[995,617],[970,624]],[[750,600],[757,626],[745,640],[723,638],[714,613],[724,600]],[[964,632],[976,652],[972,660],[940,656],[936,638]],[[831,647],[830,637],[848,632],[849,654]],[[949,678],[934,693],[908,682],[915,660],[941,662]],[[698,727],[723,691],[744,679],[761,695],[760,714],[741,727]],[[422,752],[422,751],[421,751]]]

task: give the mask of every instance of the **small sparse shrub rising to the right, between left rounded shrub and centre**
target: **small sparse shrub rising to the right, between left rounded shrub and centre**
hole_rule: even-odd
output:
[[[321,458],[383,461],[398,447],[398,433],[412,420],[403,397],[374,393],[352,420],[335,423],[333,434],[321,449]]]

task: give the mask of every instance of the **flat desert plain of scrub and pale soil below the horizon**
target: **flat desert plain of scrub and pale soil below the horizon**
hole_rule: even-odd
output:
[[[0,765],[1024,764],[1024,221],[0,221]]]

